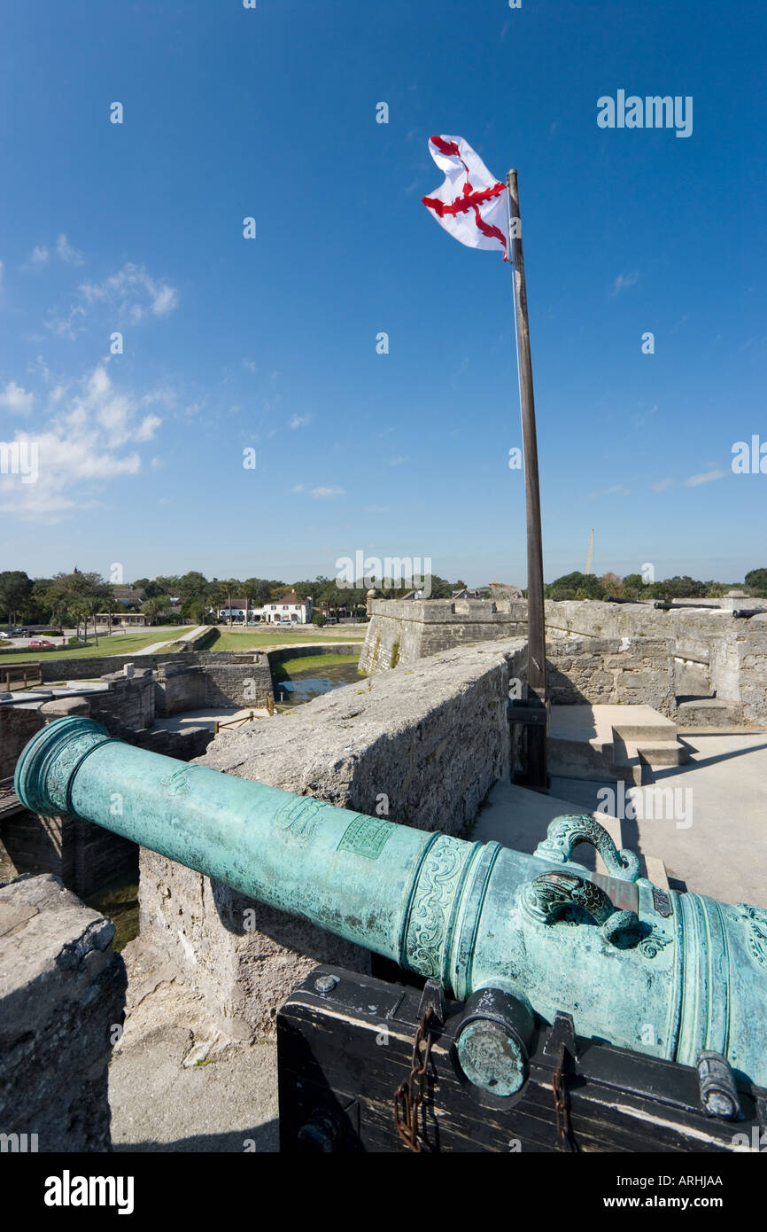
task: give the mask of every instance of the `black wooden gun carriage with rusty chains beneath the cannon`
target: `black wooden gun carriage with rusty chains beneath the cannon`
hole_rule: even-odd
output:
[[[318,967],[277,1016],[281,1149],[734,1152],[767,1145],[767,1092],[739,1087],[733,1119],[707,1115],[698,1068],[576,1039],[569,1014],[538,1029],[522,1089],[495,1096],[457,1063],[464,1020],[464,1007],[446,1002],[432,981],[417,988]]]

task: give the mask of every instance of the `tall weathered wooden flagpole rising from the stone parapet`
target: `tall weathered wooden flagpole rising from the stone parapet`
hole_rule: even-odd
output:
[[[527,696],[531,703],[545,706],[545,625],[543,611],[543,545],[540,535],[538,442],[536,437],[533,361],[529,350],[520,190],[515,170],[510,171],[506,176],[506,187],[508,188],[508,232],[515,276],[517,371],[520,375],[520,410],[522,415],[522,451],[524,457],[524,493],[527,500]],[[529,723],[527,726],[527,777],[531,787],[548,787],[547,726],[545,722]]]

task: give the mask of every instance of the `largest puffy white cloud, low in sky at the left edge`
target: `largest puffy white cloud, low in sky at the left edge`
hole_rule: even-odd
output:
[[[116,388],[102,363],[76,383],[74,394],[65,398],[62,387],[55,394],[47,415],[38,415],[39,429],[16,434],[18,442],[36,445],[39,473],[33,483],[0,474],[4,514],[49,522],[97,504],[110,480],[140,472],[135,446],[150,441],[160,426],[156,415],[142,414],[143,399]]]

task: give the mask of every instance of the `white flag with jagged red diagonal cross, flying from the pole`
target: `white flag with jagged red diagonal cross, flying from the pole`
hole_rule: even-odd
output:
[[[428,153],[444,182],[421,197],[432,218],[468,248],[506,253],[506,185],[496,180],[463,137],[432,137]]]

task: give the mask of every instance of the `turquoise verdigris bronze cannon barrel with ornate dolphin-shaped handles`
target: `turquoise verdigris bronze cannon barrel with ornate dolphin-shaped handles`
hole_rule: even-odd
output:
[[[659,890],[592,817],[556,818],[531,856],[176,761],[79,717],[33,737],[16,792],[437,978],[469,1003],[467,1072],[486,1061],[486,1023],[501,1031],[507,1092],[533,1015],[558,1010],[584,1037],[689,1066],[713,1051],[767,1087],[767,912]],[[580,841],[609,876],[571,860]]]

